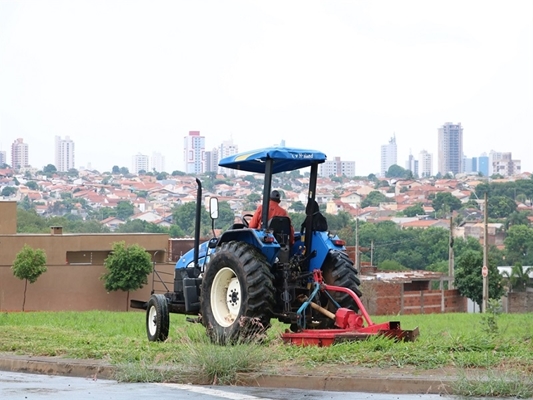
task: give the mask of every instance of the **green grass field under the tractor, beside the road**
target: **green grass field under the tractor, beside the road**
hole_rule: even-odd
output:
[[[328,366],[455,368],[482,371],[481,379],[459,377],[454,392],[475,396],[533,396],[533,315],[501,314],[497,334],[481,314],[374,317],[420,328],[415,342],[372,337],[330,347],[288,346],[274,323],[261,344],[217,346],[200,324],[171,314],[170,337],[148,342],[141,312],[27,312],[0,314],[0,352],[105,360],[122,381],[180,383],[235,382],[237,373],[286,368],[327,370]],[[507,393],[507,394],[506,394]]]

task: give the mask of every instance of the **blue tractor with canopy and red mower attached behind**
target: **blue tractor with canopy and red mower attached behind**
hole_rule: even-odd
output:
[[[306,218],[291,240],[288,217],[268,219],[262,227],[248,226],[245,214],[230,229],[215,235],[218,200],[209,199],[213,238],[200,243],[202,184],[196,179],[196,225],[193,249],[175,266],[174,290],[152,293],[148,301],[132,300],[132,308],[146,310],[148,340],[164,341],[169,313],[195,315],[213,343],[232,344],[261,337],[272,320],[288,324],[286,343],[327,346],[382,334],[414,340],[414,331],[399,322],[375,324],[360,301],[358,271],[345,242],[316,224],[321,217],[316,202],[320,151],[271,147],[223,158],[220,167],[264,174],[262,205],[268,210],[272,176],[308,169]],[[154,277],[159,274],[154,271]]]

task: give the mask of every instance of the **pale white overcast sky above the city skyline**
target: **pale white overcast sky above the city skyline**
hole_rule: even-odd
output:
[[[433,154],[461,123],[463,151],[512,152],[533,172],[533,1],[1,0],[0,150],[30,164],[132,168],[183,138],[206,150],[279,144],[379,173]]]

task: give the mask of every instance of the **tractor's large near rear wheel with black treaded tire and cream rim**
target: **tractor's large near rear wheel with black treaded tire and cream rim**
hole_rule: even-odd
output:
[[[202,280],[202,323],[213,343],[261,337],[270,327],[274,276],[259,250],[242,242],[223,243]]]

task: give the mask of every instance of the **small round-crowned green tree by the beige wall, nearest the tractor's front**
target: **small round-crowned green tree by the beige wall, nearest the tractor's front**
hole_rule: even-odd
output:
[[[128,292],[127,310],[130,292],[148,283],[148,274],[153,269],[150,254],[138,244],[126,246],[125,242],[115,242],[111,254],[104,261],[104,266],[107,269],[102,275],[105,289],[109,292],[116,290]]]

